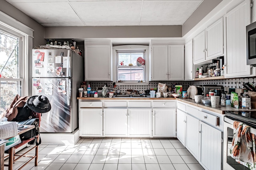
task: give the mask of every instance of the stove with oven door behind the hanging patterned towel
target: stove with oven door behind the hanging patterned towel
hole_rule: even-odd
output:
[[[256,112],[254,111],[226,111],[224,117],[224,133],[223,133],[223,170],[250,170],[246,166],[236,162],[229,152],[234,136],[233,123],[240,121],[252,128],[250,133],[256,134]]]

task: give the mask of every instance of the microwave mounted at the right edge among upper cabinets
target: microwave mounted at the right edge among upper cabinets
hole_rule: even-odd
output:
[[[246,26],[246,62],[256,66],[256,22]]]

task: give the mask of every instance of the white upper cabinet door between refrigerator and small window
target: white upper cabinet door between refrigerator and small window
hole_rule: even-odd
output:
[[[110,46],[85,46],[85,80],[110,80]]]

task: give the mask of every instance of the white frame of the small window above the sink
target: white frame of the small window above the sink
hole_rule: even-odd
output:
[[[145,78],[146,82],[118,82],[118,56],[117,51],[126,51],[126,52],[136,52],[136,51],[145,51]],[[149,46],[147,45],[119,45],[113,47],[113,82],[116,82],[116,85],[126,86],[126,85],[141,85],[148,86],[149,84]]]

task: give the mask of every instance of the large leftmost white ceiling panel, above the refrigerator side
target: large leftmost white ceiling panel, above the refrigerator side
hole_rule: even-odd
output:
[[[39,23],[81,22],[68,2],[15,3],[13,5]]]

